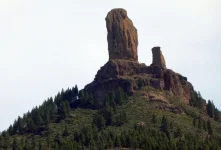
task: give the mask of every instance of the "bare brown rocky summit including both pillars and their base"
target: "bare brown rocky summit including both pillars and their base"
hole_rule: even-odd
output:
[[[187,78],[166,68],[160,47],[152,48],[153,61],[150,66],[138,62],[137,30],[124,9],[113,9],[106,17],[109,61],[98,70],[92,83],[84,90],[92,93],[98,104],[105,95],[121,87],[133,95],[139,86],[150,86],[168,91],[189,103],[193,87]]]

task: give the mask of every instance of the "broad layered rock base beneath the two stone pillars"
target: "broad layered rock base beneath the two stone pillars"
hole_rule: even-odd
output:
[[[172,70],[120,59],[108,61],[85,89],[93,93],[96,100],[102,101],[105,94],[118,87],[124,89],[128,95],[133,95],[139,89],[139,82],[142,86],[169,91],[186,104],[189,103],[190,92],[193,90],[186,77]]]

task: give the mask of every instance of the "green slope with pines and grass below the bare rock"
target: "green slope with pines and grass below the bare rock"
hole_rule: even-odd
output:
[[[165,91],[139,89],[130,97],[111,91],[99,108],[77,86],[62,90],[3,131],[0,149],[221,149],[220,112],[211,101],[195,92],[189,106]]]

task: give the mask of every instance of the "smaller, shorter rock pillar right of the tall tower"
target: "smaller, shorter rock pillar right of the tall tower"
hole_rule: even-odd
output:
[[[160,47],[153,47],[152,48],[152,55],[153,55],[153,66],[159,66],[160,68],[166,69],[166,62],[163,57],[162,51]]]

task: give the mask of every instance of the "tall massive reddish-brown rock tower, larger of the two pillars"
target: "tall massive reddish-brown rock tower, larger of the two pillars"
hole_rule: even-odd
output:
[[[109,60],[138,61],[137,29],[124,9],[113,9],[106,17]]]

